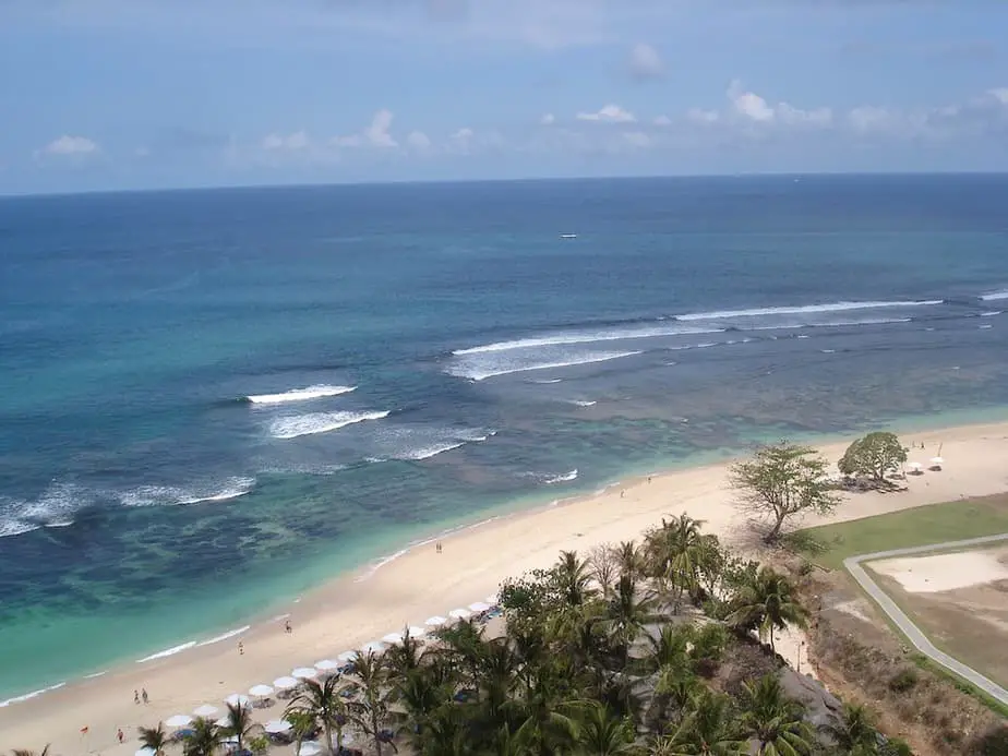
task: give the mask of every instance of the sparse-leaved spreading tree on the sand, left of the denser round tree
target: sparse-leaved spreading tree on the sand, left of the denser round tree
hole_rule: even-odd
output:
[[[764,540],[773,543],[789,519],[828,514],[840,503],[827,468],[826,459],[811,446],[781,441],[760,446],[751,459],[732,465],[729,480],[742,511],[770,521]]]

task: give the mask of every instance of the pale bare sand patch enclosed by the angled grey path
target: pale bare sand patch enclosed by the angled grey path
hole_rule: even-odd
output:
[[[964,551],[929,556],[902,556],[867,566],[879,575],[896,578],[911,593],[938,593],[1008,580],[1008,565],[989,551]]]

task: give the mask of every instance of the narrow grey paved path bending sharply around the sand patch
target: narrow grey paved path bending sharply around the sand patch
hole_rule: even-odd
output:
[[[967,667],[961,661],[953,659],[948,653],[935,648],[934,644],[927,639],[927,636],[921,632],[907,614],[903,613],[896,601],[879,588],[875,580],[868,577],[868,574],[861,566],[862,562],[874,562],[875,560],[889,559],[891,556],[907,556],[909,554],[920,554],[924,552],[948,551],[950,549],[961,549],[984,543],[995,543],[997,541],[1008,541],[1008,533],[1000,536],[984,536],[983,538],[970,538],[964,541],[949,541],[947,543],[935,543],[926,547],[914,547],[913,549],[893,549],[891,551],[879,551],[874,554],[861,554],[859,556],[849,556],[843,560],[843,566],[854,577],[855,580],[864,588],[865,592],[874,599],[881,610],[889,615],[889,619],[899,627],[900,632],[905,635],[921,653],[929,657],[932,660],[941,664],[947,670],[955,672],[963,680],[968,680],[977,688],[996,698],[1001,704],[1008,706],[1008,691],[995,683],[993,680],[985,677],[972,667]]]

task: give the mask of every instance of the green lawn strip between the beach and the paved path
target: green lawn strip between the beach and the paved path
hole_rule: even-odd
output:
[[[919,506],[851,523],[806,528],[792,533],[789,540],[793,548],[816,564],[839,569],[848,556],[1003,532],[1008,532],[1006,494]]]

